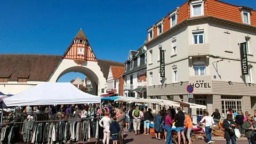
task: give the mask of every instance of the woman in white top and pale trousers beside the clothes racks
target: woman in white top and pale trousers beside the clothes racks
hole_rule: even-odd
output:
[[[103,122],[103,125],[102,125]],[[104,133],[104,138],[103,138],[103,144],[105,144],[106,140],[107,140],[107,144],[109,144],[109,139],[110,139],[110,131],[109,131],[109,126],[111,123],[111,119],[109,118],[109,111],[105,112],[105,116],[100,119],[100,126],[103,127],[103,133]]]

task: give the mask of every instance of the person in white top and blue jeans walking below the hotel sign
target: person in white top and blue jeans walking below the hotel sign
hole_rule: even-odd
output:
[[[213,121],[213,118],[211,116],[209,116],[208,111],[205,111],[204,115],[205,116],[202,118],[200,123],[205,121],[205,123],[204,123],[205,124],[205,133],[206,133],[207,139],[209,140],[209,142],[207,142],[207,143],[212,143],[213,142],[212,141],[212,135],[211,135],[212,129],[210,128],[210,126],[214,124],[214,121]]]

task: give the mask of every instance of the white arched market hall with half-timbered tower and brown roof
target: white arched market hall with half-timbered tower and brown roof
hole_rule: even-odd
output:
[[[106,93],[110,66],[124,63],[97,59],[81,29],[63,55],[0,54],[0,92],[17,94],[41,82],[57,82],[62,75],[78,72],[90,79],[93,94],[101,95]]]

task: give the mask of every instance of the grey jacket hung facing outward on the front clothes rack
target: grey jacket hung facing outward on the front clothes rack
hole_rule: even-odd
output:
[[[34,120],[26,119],[23,123],[22,133],[21,133],[21,134],[23,134],[24,142],[31,141],[32,136],[33,136],[33,129],[34,129]]]

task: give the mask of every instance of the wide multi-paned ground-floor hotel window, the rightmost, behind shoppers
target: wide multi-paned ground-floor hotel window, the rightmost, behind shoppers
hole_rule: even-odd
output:
[[[221,95],[222,118],[226,118],[229,108],[234,114],[237,110],[242,111],[242,97]]]

